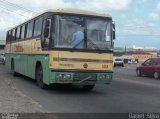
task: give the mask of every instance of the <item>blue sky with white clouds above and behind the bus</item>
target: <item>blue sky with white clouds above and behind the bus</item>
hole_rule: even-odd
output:
[[[10,27],[57,8],[109,13],[116,24],[116,47],[160,49],[160,0],[0,0],[0,38]]]

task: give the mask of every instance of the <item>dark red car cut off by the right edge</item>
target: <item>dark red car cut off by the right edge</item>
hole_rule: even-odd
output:
[[[153,76],[155,79],[160,78],[160,58],[150,58],[136,69],[137,76]]]

